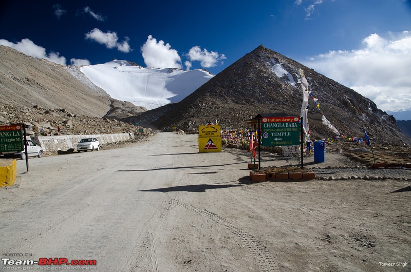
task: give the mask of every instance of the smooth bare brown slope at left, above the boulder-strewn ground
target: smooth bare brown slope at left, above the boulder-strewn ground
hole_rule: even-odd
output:
[[[122,102],[111,99],[76,66],[34,59],[6,46],[0,46],[0,93],[1,104],[38,105],[87,116],[102,117],[110,111],[111,118],[124,118],[145,111],[132,103],[121,109]]]

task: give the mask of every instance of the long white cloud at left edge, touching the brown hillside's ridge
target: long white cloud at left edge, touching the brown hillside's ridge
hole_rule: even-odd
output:
[[[44,47],[35,45],[28,38],[24,38],[21,42],[18,42],[16,44],[2,39],[0,40],[0,45],[14,48],[17,51],[35,57],[36,59],[45,59],[53,63],[66,65],[66,58],[64,56],[60,56],[59,52],[50,52],[49,54],[47,54]]]

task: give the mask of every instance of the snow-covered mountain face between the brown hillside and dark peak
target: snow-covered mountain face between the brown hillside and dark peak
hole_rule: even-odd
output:
[[[82,66],[81,71],[112,98],[147,110],[181,101],[214,76],[206,70],[143,68],[118,60]]]

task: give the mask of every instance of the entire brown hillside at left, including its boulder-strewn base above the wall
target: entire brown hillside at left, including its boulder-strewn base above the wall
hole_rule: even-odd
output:
[[[140,126],[117,120],[146,111],[110,98],[76,66],[34,59],[5,46],[0,46],[0,93],[0,125],[24,123],[28,135],[57,135],[57,126],[62,135],[141,134]]]

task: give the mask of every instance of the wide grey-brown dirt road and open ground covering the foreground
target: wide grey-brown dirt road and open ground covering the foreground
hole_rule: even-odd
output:
[[[241,151],[199,153],[197,135],[171,132],[33,158],[29,172],[19,160],[16,185],[0,188],[0,269],[411,270],[409,182],[251,183],[248,162]]]

